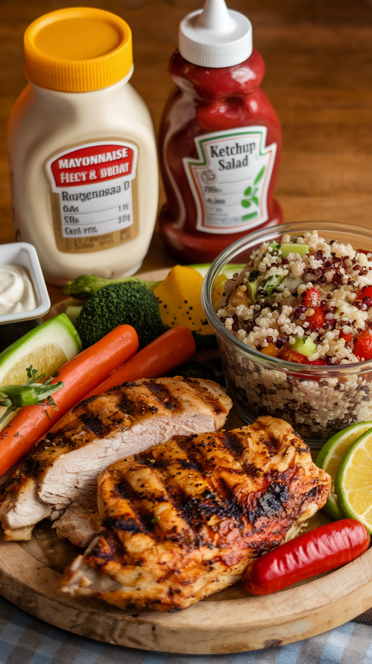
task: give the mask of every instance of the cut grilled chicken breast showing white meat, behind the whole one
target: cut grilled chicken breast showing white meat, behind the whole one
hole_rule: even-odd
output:
[[[30,539],[35,523],[56,519],[113,461],[147,450],[174,433],[217,430],[231,399],[212,380],[136,380],[70,410],[1,487],[5,539]]]

